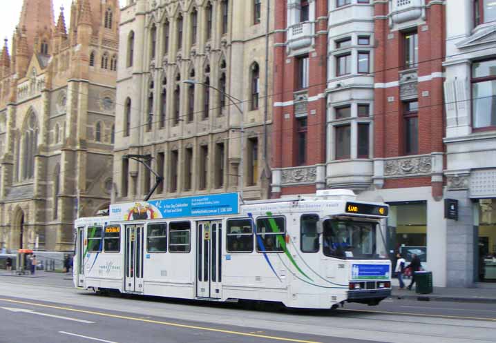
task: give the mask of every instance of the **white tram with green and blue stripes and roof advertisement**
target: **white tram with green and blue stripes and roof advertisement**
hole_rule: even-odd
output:
[[[236,193],[117,204],[80,218],[74,284],[184,299],[333,308],[391,292],[381,219],[351,190],[238,205]]]

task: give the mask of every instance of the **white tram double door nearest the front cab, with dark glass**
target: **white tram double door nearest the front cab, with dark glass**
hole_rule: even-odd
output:
[[[196,296],[222,297],[222,222],[197,222]]]

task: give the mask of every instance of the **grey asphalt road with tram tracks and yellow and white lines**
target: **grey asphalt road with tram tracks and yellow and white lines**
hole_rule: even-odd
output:
[[[338,311],[103,297],[67,282],[0,277],[0,343],[496,342],[496,306],[385,300]],[[75,321],[77,320],[77,321]]]

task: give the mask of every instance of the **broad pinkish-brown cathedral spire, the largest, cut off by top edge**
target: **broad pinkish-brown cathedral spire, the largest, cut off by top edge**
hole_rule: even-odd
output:
[[[26,28],[29,52],[32,52],[37,34],[54,28],[53,0],[23,0],[19,28]]]

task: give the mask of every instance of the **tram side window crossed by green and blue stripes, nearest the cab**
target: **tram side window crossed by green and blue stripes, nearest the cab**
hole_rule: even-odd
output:
[[[285,233],[284,217],[256,219],[256,250],[267,253],[283,252]]]

